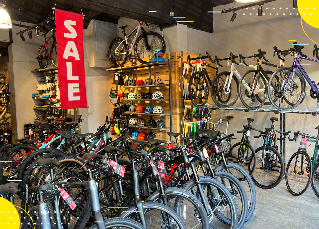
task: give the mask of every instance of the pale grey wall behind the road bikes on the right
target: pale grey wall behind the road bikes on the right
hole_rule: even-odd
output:
[[[237,6],[243,4],[237,3]],[[233,4],[222,5],[215,7],[214,11],[221,11],[226,8],[231,8]],[[268,7],[268,9],[266,9]],[[280,7],[282,8],[280,10]],[[288,9],[286,9],[288,7]],[[273,9],[275,8],[275,9]],[[300,15],[297,9],[293,10],[293,3],[291,0],[278,0],[275,2],[267,3],[263,6],[263,13],[265,15],[258,17],[257,7],[255,10],[250,7],[249,9],[242,9],[236,12],[237,17],[234,22],[230,21],[232,12],[230,13],[215,13],[214,14],[214,33],[211,34],[211,55],[217,55],[220,58],[229,56],[230,52],[235,55],[242,54],[249,56],[257,53],[258,49],[266,51],[266,58],[270,63],[278,64],[279,59],[277,56],[272,58],[273,46],[277,46],[278,49],[284,50],[292,48],[292,42],[288,40],[296,40],[299,43],[306,43],[302,52],[308,57],[312,58],[313,44],[303,32],[300,24]],[[245,15],[243,15],[245,13]],[[251,15],[250,15],[251,13]],[[271,13],[271,15],[270,15]],[[278,15],[277,15],[278,13]],[[285,15],[284,15],[285,13]],[[290,13],[292,15],[290,15]],[[309,37],[314,41],[319,41],[318,30],[314,29],[303,22],[303,27]],[[315,57],[314,57],[315,58]],[[290,66],[293,62],[293,57],[287,56],[285,66]],[[224,66],[226,62],[223,62]],[[221,63],[223,65],[223,63]],[[253,64],[253,60],[247,61],[247,63]],[[303,62],[310,63],[310,62]],[[311,62],[311,65],[303,65],[304,69],[308,73],[309,77],[315,82],[318,82],[318,65]],[[268,66],[263,66],[265,70],[275,71],[276,69]],[[245,66],[238,66],[238,71],[243,74],[249,70]],[[228,71],[227,65],[219,72]],[[307,84],[307,95],[305,101],[301,104],[301,107],[315,107],[316,100],[309,97],[309,85]],[[238,99],[240,104],[240,100]],[[242,130],[242,125],[247,125],[246,118],[254,118],[255,122],[253,126],[258,129],[264,127],[270,127],[270,117],[278,117],[279,114],[267,113],[267,112],[243,112],[243,111],[216,111],[215,118],[223,118],[227,115],[233,115],[234,119],[230,122],[228,133]],[[318,116],[312,116],[309,114],[286,114],[286,131],[292,132],[301,131],[311,135],[317,135],[318,131],[315,127],[319,125]],[[221,127],[221,126],[220,126]],[[279,129],[279,121],[275,123],[275,127]],[[255,133],[252,133],[255,134]],[[257,134],[257,133],[256,133]],[[241,134],[237,135],[241,138]],[[256,147],[261,146],[262,139],[251,138],[252,145]],[[286,141],[286,161],[290,156],[298,149],[299,143]],[[313,147],[310,147],[309,152],[313,152]]]

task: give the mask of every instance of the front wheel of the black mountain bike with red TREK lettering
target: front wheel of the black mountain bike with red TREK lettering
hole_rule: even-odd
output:
[[[197,189],[195,179],[190,179],[182,189],[196,192],[197,198],[202,201],[204,206],[208,206],[210,212],[213,212],[213,214],[208,215],[210,226],[214,229],[237,228],[237,208],[227,188],[218,180],[208,176],[199,177],[199,180],[204,199],[201,199],[199,195],[200,191]]]

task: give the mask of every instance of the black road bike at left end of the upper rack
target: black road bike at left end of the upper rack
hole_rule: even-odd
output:
[[[209,88],[208,85],[211,85],[211,78],[209,77],[206,66],[210,67],[212,69],[215,69],[215,75],[218,74],[218,66],[223,67],[223,65],[220,65],[219,62],[222,60],[227,60],[229,58],[223,58],[220,59],[217,56],[215,56],[214,61],[211,59],[211,55],[209,55],[208,52],[206,52],[207,56],[201,56],[201,57],[195,57],[190,58],[190,56],[187,56],[187,61],[189,63],[190,67],[193,67],[193,65],[190,63],[192,60],[199,60],[199,63],[197,64],[197,69],[194,70],[194,73],[189,78],[189,99],[193,103],[194,106],[198,108],[204,107],[204,105],[207,103],[208,97],[209,97]],[[217,63],[217,66],[214,67],[212,65],[206,64],[205,59],[209,58],[209,60],[212,63]],[[200,71],[198,71],[200,70]]]

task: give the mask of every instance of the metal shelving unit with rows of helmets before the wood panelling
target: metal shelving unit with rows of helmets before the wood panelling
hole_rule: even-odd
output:
[[[167,62],[155,62],[155,63],[148,63],[148,64],[141,64],[141,65],[133,65],[133,61],[131,61],[132,65],[131,66],[123,66],[123,67],[115,67],[115,68],[109,68],[106,69],[106,71],[120,71],[120,72],[131,72],[131,75],[133,76],[134,73],[133,71],[135,69],[138,68],[148,68],[148,78],[143,79],[144,83],[138,83],[138,85],[135,86],[124,86],[122,88],[127,88],[130,89],[130,92],[134,92],[134,88],[149,88],[149,92],[152,92],[152,88],[156,87],[157,89],[154,89],[153,92],[156,91],[160,91],[161,87],[168,87],[169,89],[169,97],[168,98],[162,98],[161,96],[159,96],[159,99],[122,99],[123,102],[131,102],[132,105],[138,105],[137,102],[149,102],[148,105],[152,105],[152,102],[162,102],[162,101],[169,101],[169,112],[167,113],[153,113],[153,112],[149,112],[149,113],[145,113],[145,112],[131,112],[131,111],[126,111],[124,112],[124,114],[130,114],[130,115],[136,115],[135,117],[137,117],[137,115],[147,115],[150,117],[150,119],[153,119],[152,117],[156,117],[155,119],[160,119],[160,116],[170,116],[170,123],[168,126],[168,123],[165,127],[163,128],[156,128],[156,127],[148,127],[147,125],[145,126],[138,126],[137,124],[135,125],[129,125],[129,127],[133,127],[134,130],[137,129],[144,129],[144,130],[150,130],[150,132],[152,132],[152,130],[156,130],[156,131],[164,131],[164,130],[170,130],[171,132],[173,131],[173,109],[172,109],[172,59],[174,59],[174,56],[171,56],[170,52],[168,53],[168,61]],[[169,78],[169,83],[168,84],[164,84],[162,83],[163,80],[157,79],[155,77],[152,77],[152,67],[154,66],[160,66],[160,65],[168,65],[168,78]],[[150,80],[147,80],[150,79]],[[135,79],[132,79],[135,80]],[[154,81],[155,82],[154,82]],[[143,85],[144,84],[144,85]],[[154,96],[153,96],[154,98]],[[156,104],[155,104],[156,105]],[[146,120],[147,122],[147,120]],[[158,139],[157,137],[155,137],[155,139]],[[147,141],[147,140],[138,140],[135,138],[132,138],[131,140],[134,141]],[[161,139],[159,139],[161,140]],[[171,137],[171,140],[173,140],[173,138]]]

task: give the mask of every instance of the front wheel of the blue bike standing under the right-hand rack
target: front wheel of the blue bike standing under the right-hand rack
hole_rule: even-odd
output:
[[[263,147],[259,147],[256,152],[256,169],[251,175],[254,183],[263,189],[276,187],[284,176],[284,162],[278,151],[272,147],[266,146],[263,156]],[[251,167],[252,158],[249,160]]]

